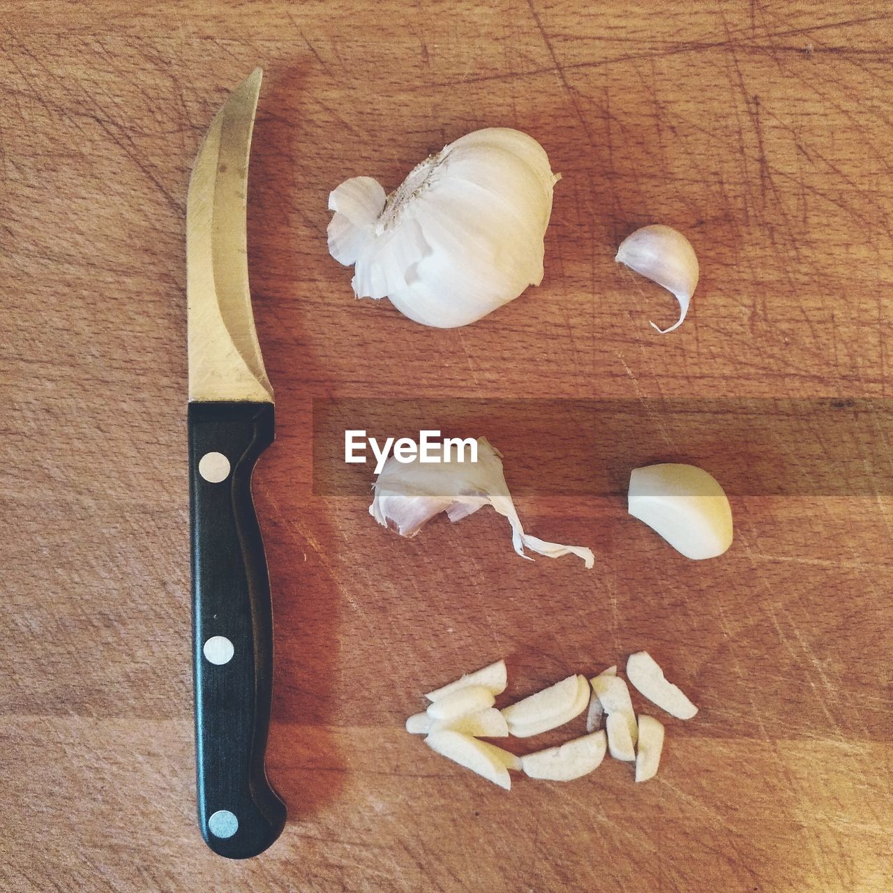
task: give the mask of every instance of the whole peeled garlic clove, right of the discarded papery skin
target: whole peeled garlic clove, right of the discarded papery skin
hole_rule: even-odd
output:
[[[731,546],[729,499],[712,475],[694,465],[634,469],[629,510],[686,558],[715,558]]]

